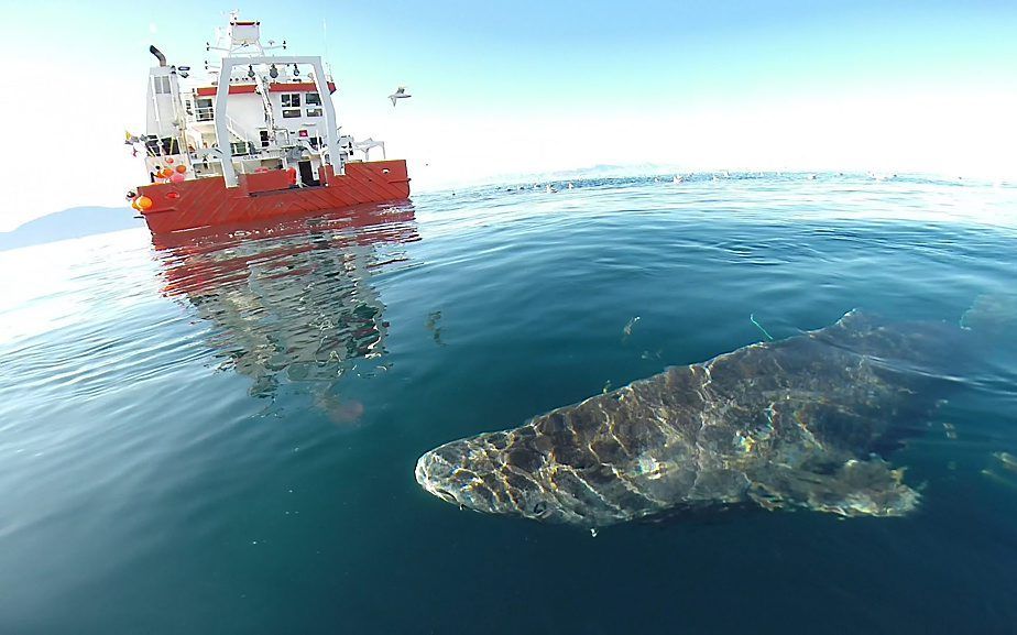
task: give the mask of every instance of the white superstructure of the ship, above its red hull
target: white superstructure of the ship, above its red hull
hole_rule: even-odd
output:
[[[277,55],[286,42],[261,43],[261,24],[236,13],[227,30],[206,50],[205,73],[166,63],[152,47],[158,66],[149,73],[144,136],[128,143],[145,154],[150,179],[179,182],[237,174],[291,169],[296,185],[318,185],[319,167],[335,174],[384,143],[357,143],[340,134],[331,94],[336,85],[320,57]]]

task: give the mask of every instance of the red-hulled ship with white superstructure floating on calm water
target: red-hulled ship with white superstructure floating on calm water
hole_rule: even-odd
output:
[[[207,79],[158,61],[149,72],[143,155],[149,184],[128,194],[153,233],[338,210],[409,196],[406,162],[384,160],[383,142],[340,134],[336,85],[320,57],[275,55],[261,24],[234,14],[208,52]],[[401,88],[390,98],[408,97]],[[383,160],[370,161],[380,150]]]

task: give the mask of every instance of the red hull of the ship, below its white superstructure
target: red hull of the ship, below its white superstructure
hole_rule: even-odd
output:
[[[405,161],[352,162],[345,174],[319,173],[321,185],[293,187],[283,171],[240,175],[238,187],[221,177],[157,183],[138,188],[152,200],[142,216],[153,233],[337,210],[409,197]]]

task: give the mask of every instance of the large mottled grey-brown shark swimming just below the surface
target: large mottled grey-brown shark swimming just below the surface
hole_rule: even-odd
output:
[[[426,452],[417,482],[490,514],[589,528],[733,505],[901,516],[920,494],[878,452],[923,425],[963,330],[859,310],[505,431]]]

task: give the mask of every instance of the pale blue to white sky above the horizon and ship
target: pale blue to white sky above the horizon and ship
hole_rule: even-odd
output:
[[[147,46],[200,67],[233,9],[325,55],[343,132],[416,191],[599,164],[1017,180],[1013,0],[0,0],[0,231],[124,205]]]

